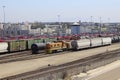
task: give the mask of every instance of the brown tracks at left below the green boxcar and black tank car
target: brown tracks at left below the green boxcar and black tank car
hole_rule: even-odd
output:
[[[99,48],[99,47],[98,47]],[[86,50],[86,49],[83,49]],[[55,56],[55,55],[62,55],[67,54],[71,51],[64,51],[64,52],[58,52],[54,54],[45,54],[44,50],[40,51],[39,54],[32,54],[31,51],[22,51],[17,53],[11,53],[10,55],[1,55],[0,56],[0,64],[2,63],[9,63],[9,62],[16,62],[16,61],[23,61],[23,60],[30,60],[30,59],[37,59],[37,58],[43,58],[43,57],[49,57],[49,56]]]

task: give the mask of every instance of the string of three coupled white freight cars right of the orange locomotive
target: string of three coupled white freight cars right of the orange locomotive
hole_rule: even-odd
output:
[[[111,38],[93,38],[93,39],[83,39],[74,40],[71,42],[72,50],[79,50],[83,48],[98,47],[111,44]]]

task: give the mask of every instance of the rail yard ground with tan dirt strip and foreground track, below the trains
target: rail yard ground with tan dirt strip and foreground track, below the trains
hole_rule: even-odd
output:
[[[86,72],[87,70],[106,65],[120,58],[120,43],[110,46],[83,49],[80,51],[66,51],[56,54],[31,55],[17,61],[8,60],[0,64],[0,79],[3,80],[57,80],[67,79],[69,76]],[[63,54],[61,54],[63,53]],[[30,57],[31,56],[31,57]],[[34,58],[32,58],[34,56]],[[5,57],[5,56],[4,56]],[[89,62],[90,61],[90,62]],[[89,63],[89,64],[88,64]],[[72,66],[73,65],[73,66]],[[67,67],[66,67],[67,66]],[[69,67],[69,68],[68,68]],[[67,69],[68,68],[68,69]],[[66,71],[65,71],[66,69]],[[58,70],[58,71],[57,71]],[[68,71],[67,71],[68,70]],[[56,72],[57,71],[57,72]],[[53,75],[51,74],[53,73]],[[69,79],[68,79],[69,80]]]

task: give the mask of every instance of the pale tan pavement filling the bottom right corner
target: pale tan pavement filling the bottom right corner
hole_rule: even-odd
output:
[[[71,78],[71,80],[120,80],[120,60]]]

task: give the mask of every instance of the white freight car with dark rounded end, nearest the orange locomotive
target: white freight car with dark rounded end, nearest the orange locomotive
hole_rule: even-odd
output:
[[[71,42],[73,49],[83,49],[90,47],[90,40],[89,39],[81,39],[81,40],[75,40]]]

